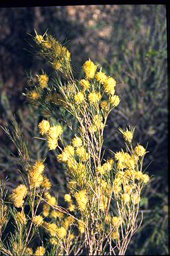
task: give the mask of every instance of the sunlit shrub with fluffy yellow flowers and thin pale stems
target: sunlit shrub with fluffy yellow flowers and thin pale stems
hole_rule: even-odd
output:
[[[17,145],[23,183],[11,194],[13,208],[8,211],[13,215],[15,231],[7,242],[1,239],[1,252],[80,255],[86,251],[87,255],[124,255],[143,219],[139,203],[141,190],[149,182],[149,176],[142,171],[146,149],[139,143],[133,146],[134,127],[120,129],[126,147],[105,159],[104,128],[108,115],[120,104],[116,79],[108,77],[89,59],[82,66],[84,77],[76,80],[65,46],[46,33],[36,33],[34,40],[39,55],[54,69],[55,77],[50,81],[42,73],[37,75],[36,82],[30,77],[32,87],[25,95],[49,110],[52,105],[60,106],[78,121],[78,129],[68,145],[64,142],[62,123],[44,117],[38,125],[39,139],[46,141],[49,151],[53,150],[57,161],[65,166],[69,193],[64,195],[66,207],[62,207],[51,193],[45,159],[31,163],[26,143],[16,143],[16,121],[13,134],[5,128]],[[2,209],[7,211],[7,205],[3,203]],[[0,217],[7,219],[3,213]],[[39,246],[32,248],[38,237]]]

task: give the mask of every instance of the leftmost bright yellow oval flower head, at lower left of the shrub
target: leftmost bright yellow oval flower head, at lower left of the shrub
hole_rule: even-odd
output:
[[[19,185],[12,191],[11,199],[13,199],[13,203],[15,207],[22,207],[23,206],[23,199],[27,195],[27,187],[25,185]]]

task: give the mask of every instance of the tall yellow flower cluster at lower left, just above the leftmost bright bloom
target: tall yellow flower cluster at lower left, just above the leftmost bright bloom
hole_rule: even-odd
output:
[[[32,169],[29,170],[29,179],[31,189],[40,187],[43,181],[43,173],[44,164],[41,161],[37,161],[35,165],[33,165]]]

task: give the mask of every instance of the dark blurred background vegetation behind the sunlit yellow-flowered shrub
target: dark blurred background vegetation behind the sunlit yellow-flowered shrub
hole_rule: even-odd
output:
[[[52,169],[55,158],[44,152],[43,141],[33,139],[41,121],[41,107],[31,106],[22,95],[32,75],[50,67],[37,61],[29,46],[34,28],[46,29],[59,41],[68,41],[75,70],[86,59],[100,63],[118,81],[122,104],[114,110],[106,129],[106,149],[123,147],[118,127],[135,125],[136,141],[149,151],[146,172],[153,175],[143,193],[143,225],[133,238],[127,254],[168,254],[167,202],[167,28],[165,5],[87,5],[65,7],[23,7],[0,10],[0,123],[11,127],[13,113],[21,133],[35,152],[35,159],[48,161],[48,177],[56,190],[64,191],[60,166]],[[28,34],[27,34],[28,33]],[[27,49],[27,50],[25,50]],[[68,133],[69,140],[70,133]],[[0,179],[10,178],[8,189],[19,183],[17,151],[0,129]],[[12,152],[12,154],[11,154]],[[51,164],[49,164],[51,163]],[[51,166],[51,168],[50,168]]]

